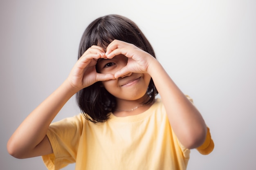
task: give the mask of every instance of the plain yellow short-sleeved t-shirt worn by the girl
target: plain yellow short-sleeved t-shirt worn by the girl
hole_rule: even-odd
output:
[[[49,170],[76,163],[75,170],[185,170],[190,150],[178,141],[161,99],[144,113],[94,124],[82,114],[52,123],[47,137],[53,154],[43,156]],[[209,154],[213,141],[198,150]]]

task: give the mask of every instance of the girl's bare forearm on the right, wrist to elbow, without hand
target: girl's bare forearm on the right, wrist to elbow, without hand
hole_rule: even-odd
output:
[[[186,148],[200,146],[206,135],[206,125],[199,111],[156,60],[150,64],[149,74],[166,108],[169,122]]]

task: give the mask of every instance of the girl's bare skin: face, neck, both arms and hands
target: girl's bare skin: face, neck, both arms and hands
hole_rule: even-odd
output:
[[[96,72],[96,65],[100,73]],[[16,129],[7,143],[8,152],[17,158],[52,153],[46,136],[49,124],[65,103],[82,88],[101,81],[103,86],[117,97],[117,108],[130,109],[139,106],[147,97],[146,88],[151,77],[180,142],[189,149],[200,146],[207,132],[204,120],[162,65],[133,44],[114,40],[108,45],[106,52],[99,46],[92,46],[85,51],[63,84],[37,106]],[[132,112],[115,111],[114,114],[137,115],[147,110],[150,105],[139,107]]]

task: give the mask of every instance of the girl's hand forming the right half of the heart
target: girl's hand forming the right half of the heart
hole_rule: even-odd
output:
[[[128,62],[125,67],[115,73],[115,78],[128,75],[129,73],[148,73],[150,62],[155,60],[152,55],[133,44],[114,40],[106,49],[106,57],[111,59],[119,54],[128,57]]]

